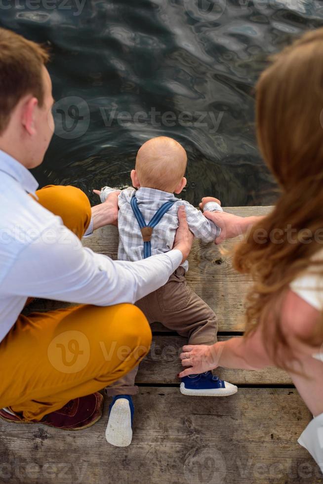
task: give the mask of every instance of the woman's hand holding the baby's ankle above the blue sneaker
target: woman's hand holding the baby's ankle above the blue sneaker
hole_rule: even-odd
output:
[[[220,357],[223,351],[222,342],[215,345],[187,345],[183,346],[183,353],[180,354],[182,366],[189,366],[178,374],[180,378],[187,375],[204,373],[219,366]]]

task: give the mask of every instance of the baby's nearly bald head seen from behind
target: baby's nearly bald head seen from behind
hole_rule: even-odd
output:
[[[181,193],[186,185],[186,165],[186,151],[177,141],[166,136],[150,139],[138,151],[136,167],[131,171],[132,184],[135,188]]]

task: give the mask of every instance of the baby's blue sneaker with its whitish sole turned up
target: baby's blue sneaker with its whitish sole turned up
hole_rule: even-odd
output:
[[[127,447],[132,441],[134,406],[130,395],[116,395],[110,403],[105,438],[111,445]]]

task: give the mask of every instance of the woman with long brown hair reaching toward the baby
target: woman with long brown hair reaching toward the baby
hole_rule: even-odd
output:
[[[323,29],[274,58],[256,89],[257,138],[281,196],[267,217],[206,213],[216,243],[248,227],[234,265],[252,276],[246,332],[184,346],[179,376],[224,366],[285,368],[314,420],[299,443],[323,471]],[[203,199],[202,205],[207,201]]]

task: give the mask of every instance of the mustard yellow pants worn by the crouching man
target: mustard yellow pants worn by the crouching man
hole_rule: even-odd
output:
[[[91,218],[86,195],[63,186],[37,195],[81,239]],[[120,379],[146,356],[151,338],[146,318],[131,304],[20,315],[0,342],[0,408],[40,420]]]

